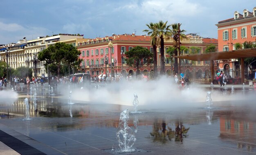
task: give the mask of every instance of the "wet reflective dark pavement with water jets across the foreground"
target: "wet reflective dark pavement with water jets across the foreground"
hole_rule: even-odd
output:
[[[211,88],[199,87],[205,91],[205,98]],[[83,89],[92,88],[94,85]],[[20,154],[115,154],[109,150],[119,148],[116,131],[120,113],[126,108],[134,111],[133,96],[130,106],[74,99],[74,104],[68,105],[68,88],[53,89],[55,95],[51,88],[39,86],[36,100],[30,89],[17,90],[17,99],[0,100],[0,148],[8,146]],[[213,98],[213,109],[205,109],[204,102],[182,106],[172,100],[155,103],[157,106],[139,103],[141,113],[130,113],[128,126],[135,131],[134,147],[143,151],[126,154],[256,154],[256,104],[255,99],[247,97],[255,96],[255,92],[249,87],[242,89],[241,85],[236,87],[239,100]],[[67,93],[63,96],[61,90]],[[215,86],[212,97],[227,97],[230,91],[230,86],[226,94]],[[25,119],[25,97],[29,99],[31,120]]]

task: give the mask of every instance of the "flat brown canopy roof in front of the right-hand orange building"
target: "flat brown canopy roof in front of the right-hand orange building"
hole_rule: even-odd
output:
[[[180,55],[180,56],[175,56],[174,58],[181,58],[181,59],[194,60],[194,61],[206,61],[206,60],[223,60],[223,59],[236,59],[236,58],[247,58],[247,57],[256,57],[256,48],[240,49],[240,50],[224,51],[224,52]]]

